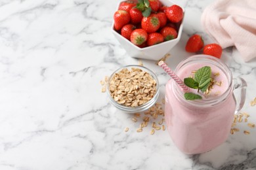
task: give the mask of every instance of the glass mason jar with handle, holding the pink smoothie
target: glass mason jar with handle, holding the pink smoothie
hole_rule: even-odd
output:
[[[221,72],[225,89],[219,95],[186,100],[180,86],[170,79],[165,86],[165,122],[171,139],[185,154],[207,152],[224,143],[230,133],[234,114],[245,101],[246,82],[232,78],[230,69],[217,58],[195,55],[177,65],[175,73],[182,77],[186,71],[209,65]],[[233,90],[240,88],[238,103]],[[238,105],[237,105],[238,104]]]

